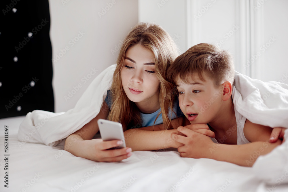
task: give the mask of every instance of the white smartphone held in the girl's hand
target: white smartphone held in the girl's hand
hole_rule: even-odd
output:
[[[126,147],[122,124],[105,119],[97,121],[101,138],[103,141],[122,140],[123,144],[111,149],[119,149]]]

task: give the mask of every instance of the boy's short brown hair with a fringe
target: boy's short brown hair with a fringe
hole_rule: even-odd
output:
[[[234,64],[232,55],[219,47],[200,43],[188,49],[175,59],[168,69],[168,77],[175,84],[177,78],[187,82],[192,73],[198,73],[204,80],[203,73],[214,80],[215,87],[225,81],[234,83]]]

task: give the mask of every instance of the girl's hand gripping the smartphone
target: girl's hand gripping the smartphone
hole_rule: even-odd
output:
[[[122,145],[122,140],[103,141],[102,139],[84,140],[87,146],[85,158],[99,162],[117,162],[132,155],[131,148],[110,149]],[[109,150],[108,150],[109,149]]]

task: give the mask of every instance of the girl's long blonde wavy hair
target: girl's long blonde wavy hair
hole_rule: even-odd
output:
[[[127,50],[136,44],[140,44],[154,54],[155,73],[160,81],[159,102],[163,123],[166,129],[171,129],[171,117],[168,117],[168,111],[169,108],[173,111],[175,98],[169,97],[173,85],[166,79],[168,67],[178,56],[179,51],[171,36],[162,27],[152,23],[137,24],[124,39],[113,74],[111,85],[112,106],[108,119],[122,123],[124,131],[130,128],[138,128],[142,124],[138,107],[128,99],[124,92],[120,73]]]

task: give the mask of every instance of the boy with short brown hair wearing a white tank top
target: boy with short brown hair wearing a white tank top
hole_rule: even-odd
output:
[[[281,144],[279,139],[269,142],[270,127],[252,123],[234,109],[234,65],[228,52],[207,43],[195,45],[176,58],[168,77],[177,85],[179,106],[191,123],[178,128],[184,136],[171,136],[181,144],[181,157],[252,166],[259,155]],[[193,131],[207,126],[215,133],[215,143]]]

